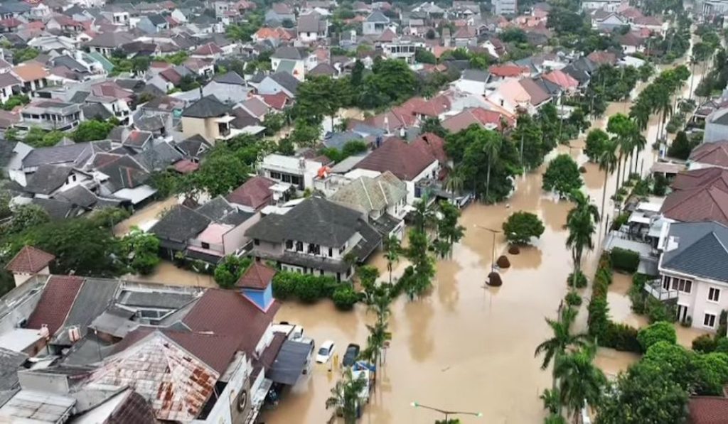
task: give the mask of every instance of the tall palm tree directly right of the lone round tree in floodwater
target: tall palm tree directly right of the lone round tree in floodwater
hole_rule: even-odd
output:
[[[575,190],[571,193],[574,208],[566,215],[566,228],[569,236],[566,238],[566,247],[571,249],[571,259],[574,260],[574,279],[581,272],[582,254],[584,249],[594,249],[592,236],[599,222],[599,210],[591,203],[590,196]]]

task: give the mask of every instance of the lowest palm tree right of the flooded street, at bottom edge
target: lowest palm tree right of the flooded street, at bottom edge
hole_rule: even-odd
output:
[[[566,407],[574,424],[579,423],[584,402],[598,404],[602,388],[606,385],[604,372],[594,366],[594,356],[596,346],[590,343],[560,356],[554,365],[554,372],[558,375],[561,404]]]

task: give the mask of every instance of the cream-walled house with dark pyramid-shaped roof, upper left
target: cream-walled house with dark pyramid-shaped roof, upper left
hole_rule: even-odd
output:
[[[209,143],[232,137],[230,121],[235,119],[229,105],[214,96],[205,96],[182,112],[182,134],[185,137],[202,135]]]

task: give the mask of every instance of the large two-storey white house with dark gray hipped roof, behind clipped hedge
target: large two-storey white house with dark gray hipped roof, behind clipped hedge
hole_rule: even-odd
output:
[[[285,271],[348,280],[381,245],[381,235],[363,212],[313,196],[283,215],[267,215],[246,233],[253,256],[273,260]],[[349,260],[351,258],[351,260]]]

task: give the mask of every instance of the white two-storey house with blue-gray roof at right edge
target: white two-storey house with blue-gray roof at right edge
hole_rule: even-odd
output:
[[[676,302],[678,320],[708,331],[728,309],[728,227],[716,221],[670,223],[660,237],[660,279],[647,292]]]

